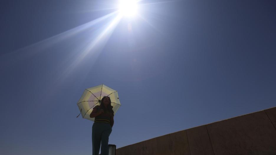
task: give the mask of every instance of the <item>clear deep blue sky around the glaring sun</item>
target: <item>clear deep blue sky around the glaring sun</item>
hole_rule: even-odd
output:
[[[1,1],[0,153],[92,154],[76,103],[99,84],[117,148],[275,106],[275,1],[156,2],[97,41],[115,0]]]

